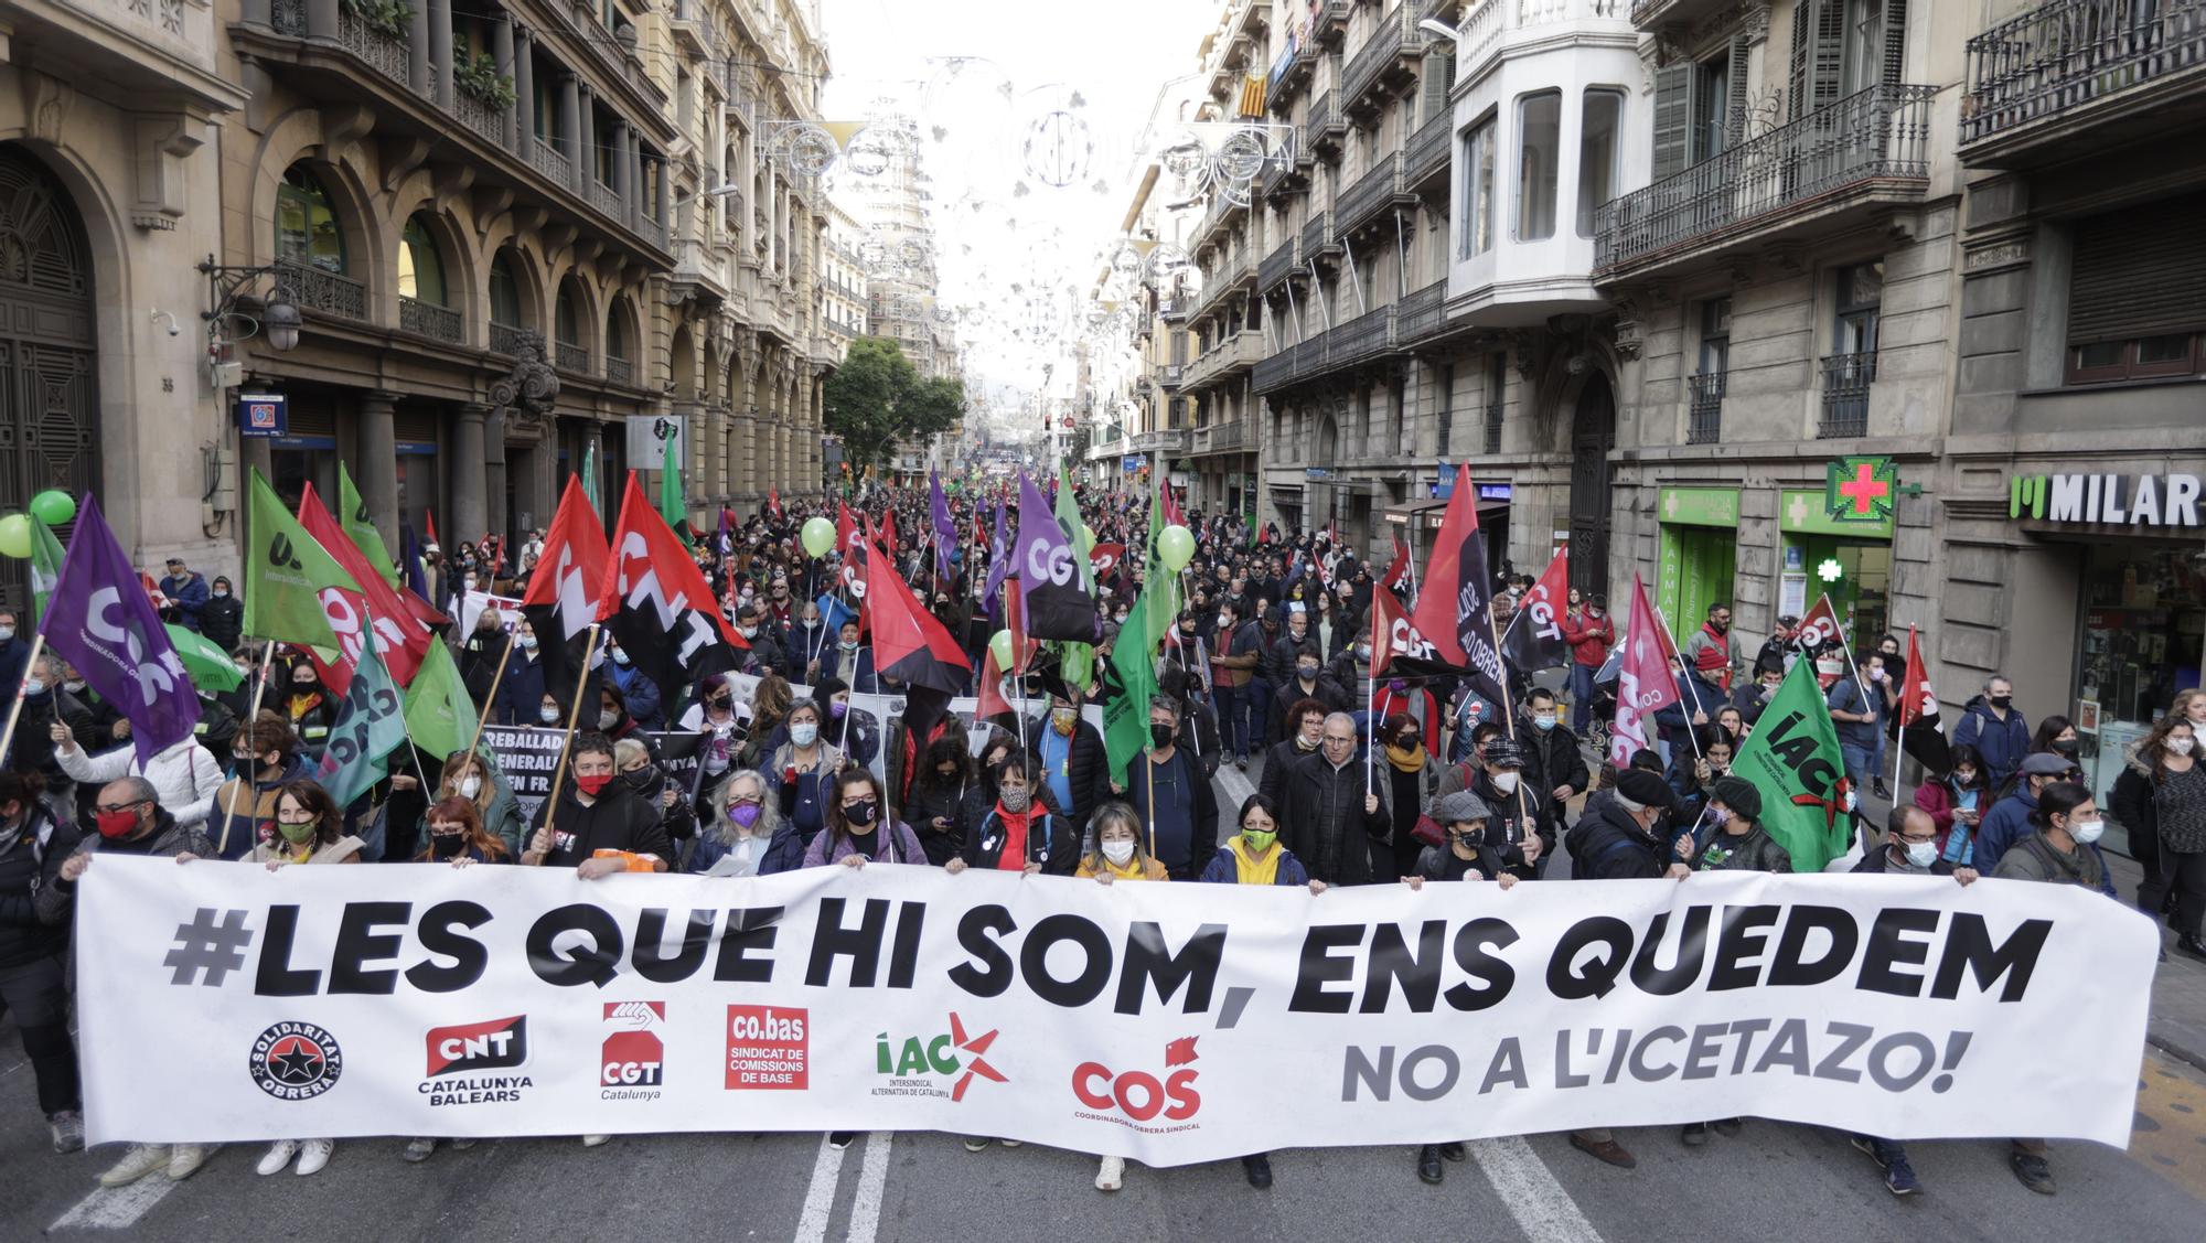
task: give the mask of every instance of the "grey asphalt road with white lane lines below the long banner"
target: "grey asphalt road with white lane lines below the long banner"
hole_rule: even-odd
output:
[[[1246,778],[1222,774],[1220,807]],[[192,1073],[205,1053],[146,1034],[146,1058]],[[2067,1049],[2049,1056],[2138,1056]],[[1293,1067],[1282,1067],[1293,1082]],[[2027,1084],[2018,1084],[2025,1089]],[[1443,1186],[1416,1179],[1412,1148],[1297,1148],[1253,1190],[1238,1161],[1129,1168],[1094,1190],[1092,1157],[935,1133],[867,1135],[834,1153],[818,1135],[485,1142],[413,1166],[404,1139],[342,1142],[311,1179],[254,1172],[263,1146],[218,1150],[194,1177],[99,1190],[121,1148],[55,1155],[31,1069],[0,1023],[0,1239],[53,1234],[176,1239],[770,1239],[794,1243],[1081,1243],[1368,1239],[1694,1241],[1798,1239],[2129,1243],[2195,1241],[2206,1223],[2206,1076],[2146,1051],[2129,1150],[2056,1144],[2056,1197],[2025,1190],[2001,1142],[1913,1144],[1924,1195],[1891,1197],[1844,1135],[1747,1122],[1685,1148],[1674,1128],[1621,1131],[1637,1170],[1615,1170],[1562,1135],[1489,1139]]]

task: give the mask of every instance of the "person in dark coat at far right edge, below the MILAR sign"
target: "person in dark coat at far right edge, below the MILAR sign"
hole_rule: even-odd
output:
[[[2160,919],[2175,899],[2175,952],[2206,959],[2206,767],[2197,763],[2197,727],[2168,712],[2129,754],[2113,778],[2109,811],[2129,829],[2129,853],[2144,866],[2138,910]]]

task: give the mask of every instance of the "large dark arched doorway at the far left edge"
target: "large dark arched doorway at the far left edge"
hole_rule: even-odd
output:
[[[0,145],[0,514],[99,485],[95,339],[82,214],[46,165]],[[29,564],[0,558],[7,608],[29,604]]]

